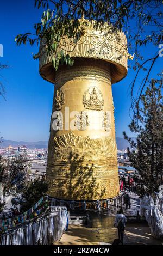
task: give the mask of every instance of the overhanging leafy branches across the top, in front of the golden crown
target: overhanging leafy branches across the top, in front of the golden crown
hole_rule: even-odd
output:
[[[148,43],[159,45],[162,42],[162,0],[35,0],[35,7],[43,9],[41,21],[34,25],[35,32],[19,34],[17,45],[39,45],[43,40],[47,45],[47,54],[53,53],[53,65],[57,70],[59,63],[73,65],[68,56],[59,56],[57,48],[63,35],[77,41],[83,31],[78,19],[96,20],[98,23],[108,22],[115,29],[124,31],[128,38],[128,47],[133,47],[135,65],[133,68],[144,68],[140,61],[139,47]],[[34,58],[39,58],[36,54]]]

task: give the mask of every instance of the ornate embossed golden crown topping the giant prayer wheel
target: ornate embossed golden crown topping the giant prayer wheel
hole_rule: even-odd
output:
[[[63,36],[57,51],[64,51],[72,58],[101,59],[111,63],[111,82],[116,83],[127,75],[127,60],[132,58],[128,53],[127,39],[121,31],[116,31],[107,22],[98,23],[82,17],[79,19],[82,36],[76,42],[73,38]],[[53,82],[55,70],[52,57],[48,57],[43,44],[40,44],[40,75]]]

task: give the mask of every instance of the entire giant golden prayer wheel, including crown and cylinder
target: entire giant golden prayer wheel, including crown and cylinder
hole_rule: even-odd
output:
[[[119,192],[114,103],[111,84],[127,75],[126,36],[108,23],[80,19],[82,37],[63,36],[58,51],[74,65],[55,71],[40,46],[40,75],[55,84],[46,177],[48,195],[97,200]],[[54,129],[57,128],[58,130]]]

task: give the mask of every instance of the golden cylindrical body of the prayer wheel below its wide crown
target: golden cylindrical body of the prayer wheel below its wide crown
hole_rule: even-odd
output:
[[[62,127],[54,130],[61,119]],[[97,200],[117,196],[110,63],[75,59],[72,67],[62,66],[56,72],[46,175],[51,197]]]

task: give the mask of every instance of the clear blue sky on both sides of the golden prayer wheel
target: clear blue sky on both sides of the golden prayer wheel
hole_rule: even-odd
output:
[[[4,53],[0,62],[10,67],[1,72],[5,86],[5,99],[0,98],[0,136],[16,141],[42,141],[49,137],[49,124],[52,112],[53,84],[46,82],[39,75],[39,61],[33,60],[32,52],[37,53],[36,46],[17,47],[14,38],[17,34],[32,31],[33,24],[40,21],[42,10],[34,8],[34,0],[1,1],[0,44]],[[145,57],[158,47],[148,46],[142,49]],[[162,65],[159,58],[152,71],[155,76]],[[131,61],[129,61],[131,62]],[[131,69],[124,80],[112,86],[115,105],[116,137],[123,137],[128,129],[130,117],[129,84],[135,72]],[[139,86],[139,82],[136,86]],[[133,135],[132,135],[133,136]]]

